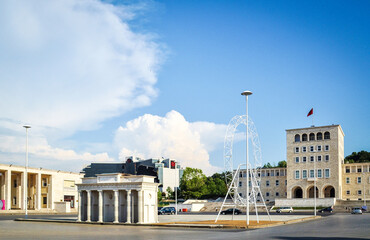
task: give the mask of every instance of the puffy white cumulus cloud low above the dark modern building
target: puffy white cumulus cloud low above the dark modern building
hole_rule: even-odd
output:
[[[171,111],[165,117],[145,114],[119,127],[115,146],[120,158],[174,158],[183,166],[202,169],[206,174],[221,170],[210,163],[209,152],[223,143],[226,125],[186,121]]]

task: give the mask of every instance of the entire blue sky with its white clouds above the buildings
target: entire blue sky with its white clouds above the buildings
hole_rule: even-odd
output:
[[[263,162],[285,129],[341,124],[370,151],[367,1],[9,0],[0,3],[0,163],[80,171],[127,155],[223,170],[229,120]],[[245,157],[242,132],[235,161]]]

